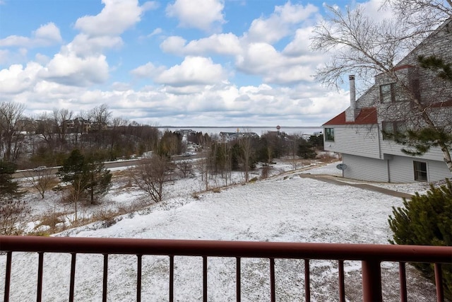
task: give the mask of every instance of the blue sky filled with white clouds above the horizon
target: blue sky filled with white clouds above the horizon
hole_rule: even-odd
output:
[[[347,86],[312,77],[328,60],[309,47],[325,3],[350,1],[0,0],[0,101],[31,116],[105,103],[157,126],[317,127],[349,103]]]

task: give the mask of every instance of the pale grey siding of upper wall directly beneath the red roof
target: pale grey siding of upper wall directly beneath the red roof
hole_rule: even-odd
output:
[[[334,141],[324,141],[326,151],[380,158],[379,129],[376,125],[331,126]],[[323,129],[325,133],[325,129]]]

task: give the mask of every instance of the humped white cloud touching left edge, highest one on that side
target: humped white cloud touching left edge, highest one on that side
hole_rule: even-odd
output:
[[[0,47],[23,46],[23,47],[42,47],[55,45],[61,42],[61,34],[57,25],[50,22],[41,25],[40,28],[32,33],[31,37],[19,35],[10,35],[0,40]]]

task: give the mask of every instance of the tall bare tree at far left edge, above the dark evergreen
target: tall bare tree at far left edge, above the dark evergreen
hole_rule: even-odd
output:
[[[23,111],[20,103],[0,103],[0,157],[16,161],[23,148]]]

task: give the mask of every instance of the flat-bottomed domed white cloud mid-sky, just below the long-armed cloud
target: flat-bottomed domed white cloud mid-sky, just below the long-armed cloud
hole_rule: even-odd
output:
[[[186,57],[180,65],[172,66],[157,76],[155,83],[169,86],[208,85],[226,79],[220,64],[205,57]]]

